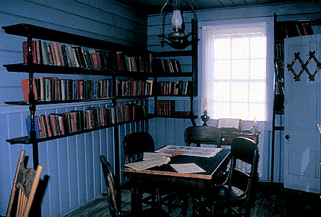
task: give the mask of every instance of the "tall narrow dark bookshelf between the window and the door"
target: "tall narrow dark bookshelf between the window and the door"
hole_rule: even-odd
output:
[[[272,117],[272,153],[271,153],[271,181],[274,179],[274,160],[275,160],[275,144],[276,134],[279,132],[282,141],[282,132],[284,131],[285,120],[285,73],[287,70],[284,59],[284,39],[307,36],[314,34],[313,26],[319,26],[320,20],[302,20],[302,21],[278,21],[277,15],[274,14],[274,64],[275,64],[275,92]],[[294,58],[294,55],[292,59]],[[298,72],[297,72],[298,73]],[[290,75],[292,76],[292,75]]]

